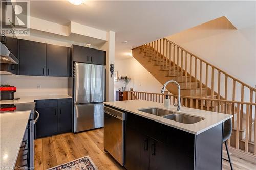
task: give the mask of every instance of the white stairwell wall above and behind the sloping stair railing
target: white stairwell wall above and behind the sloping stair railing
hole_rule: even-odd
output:
[[[167,39],[222,69],[233,77],[238,78],[242,82],[255,87],[256,26],[252,25],[237,30],[233,29],[230,25],[231,23],[225,17],[221,17],[220,19],[169,36]],[[199,71],[197,72],[199,73]],[[211,70],[209,70],[209,74],[211,74]],[[203,75],[204,77],[205,75]],[[215,78],[217,79],[217,77],[217,72],[215,72]],[[221,81],[223,84],[224,78],[221,78]],[[210,83],[208,82],[208,85]],[[224,85],[222,86],[222,93],[224,92],[223,89]],[[228,89],[228,99],[231,99],[231,81],[228,82]],[[237,100],[241,98],[240,89],[241,86],[237,85]],[[215,91],[217,91],[217,85],[215,85]],[[245,98],[245,101],[249,101],[248,90],[245,92]]]

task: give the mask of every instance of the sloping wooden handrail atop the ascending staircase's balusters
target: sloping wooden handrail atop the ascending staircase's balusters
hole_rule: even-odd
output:
[[[235,80],[236,82],[243,84],[245,87],[247,87],[247,88],[249,88],[249,89],[251,89],[251,90],[253,90],[253,91],[256,91],[255,88],[253,88],[253,87],[251,87],[250,85],[248,85],[248,84],[246,84],[246,83],[240,81],[239,79],[237,79],[237,78],[231,76],[231,75],[228,74],[227,72],[221,70],[220,68],[217,68],[216,66],[210,64],[209,62],[205,61],[204,59],[199,58],[197,55],[195,55],[195,54],[193,54],[193,53],[190,53],[189,51],[187,51],[186,49],[184,49],[184,48],[182,48],[181,46],[177,45],[176,43],[174,43],[174,42],[172,42],[172,41],[170,41],[170,40],[168,40],[168,39],[166,39],[166,38],[163,38],[163,39],[165,39],[166,41],[168,41],[168,42],[174,44],[175,46],[179,47],[181,50],[187,52],[187,53],[190,54],[191,56],[196,57],[198,60],[200,60],[200,61],[206,63],[208,66],[211,66],[212,68],[215,68],[216,70],[222,72],[222,74],[228,76],[229,78]]]

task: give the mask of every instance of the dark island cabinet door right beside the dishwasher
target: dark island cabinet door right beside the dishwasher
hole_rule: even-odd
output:
[[[148,141],[147,136],[126,128],[124,167],[127,170],[148,170]]]

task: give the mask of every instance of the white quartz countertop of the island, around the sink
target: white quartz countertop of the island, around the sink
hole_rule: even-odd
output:
[[[215,127],[220,123],[223,123],[226,120],[233,117],[232,115],[229,115],[229,114],[210,112],[210,111],[193,109],[188,107],[181,107],[181,111],[177,111],[177,107],[173,105],[170,105],[170,107],[166,109],[163,103],[150,102],[150,101],[144,101],[144,100],[104,102],[104,104],[151,119],[151,120],[155,120],[156,122],[159,122],[167,126],[174,127],[189,133],[193,133],[195,135],[198,135],[212,127]],[[196,116],[196,117],[202,117],[204,118],[204,120],[201,120],[200,122],[197,122],[194,124],[183,124],[183,123],[176,122],[174,120],[170,120],[170,119],[156,116],[153,114],[148,114],[138,110],[138,109],[151,108],[151,107],[161,108],[165,110],[170,110],[172,112],[187,114],[187,115]]]

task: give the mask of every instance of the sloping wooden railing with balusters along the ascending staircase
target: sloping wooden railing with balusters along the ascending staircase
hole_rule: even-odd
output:
[[[177,80],[178,77],[181,77],[186,88],[196,89],[199,83],[201,97],[240,102],[256,101],[254,87],[234,78],[166,38],[147,43],[141,46],[141,49],[151,56],[151,60],[156,60],[157,65],[161,64],[163,68],[168,69],[169,74],[172,74],[172,71],[177,71]],[[192,87],[193,83],[196,83],[194,87]],[[202,89],[206,89],[204,95]]]

